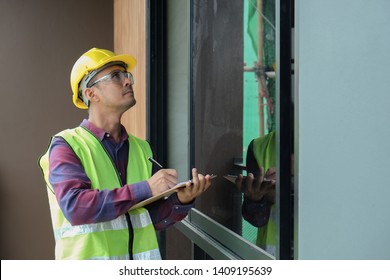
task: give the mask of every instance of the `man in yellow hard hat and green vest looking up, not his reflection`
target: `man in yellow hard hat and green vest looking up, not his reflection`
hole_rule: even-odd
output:
[[[88,120],[55,135],[40,166],[48,186],[56,259],[161,259],[155,230],[182,220],[210,176],[165,200],[129,209],[177,184],[174,169],[153,169],[145,140],[126,132],[124,112],[136,104],[129,55],[93,48],[74,64],[73,103]]]

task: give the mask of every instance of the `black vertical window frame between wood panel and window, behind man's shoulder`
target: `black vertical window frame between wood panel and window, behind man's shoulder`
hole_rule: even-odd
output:
[[[166,1],[146,3],[146,138],[159,162],[167,164],[167,23]],[[166,234],[157,233],[161,255],[166,255]]]

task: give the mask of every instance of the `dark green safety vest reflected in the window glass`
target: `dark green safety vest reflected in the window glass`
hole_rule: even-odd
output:
[[[254,156],[257,164],[264,168],[264,172],[267,172],[268,168],[276,166],[275,137],[275,132],[270,132],[256,138],[253,142]],[[276,212],[275,204],[273,204],[268,223],[258,229],[256,245],[274,256],[276,254],[276,230]]]

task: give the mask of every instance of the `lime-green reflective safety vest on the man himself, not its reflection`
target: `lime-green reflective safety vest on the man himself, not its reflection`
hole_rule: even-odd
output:
[[[78,156],[91,180],[92,189],[122,186],[111,157],[90,131],[77,127],[64,130],[55,137],[62,137]],[[129,135],[127,184],[151,176],[149,156],[152,156],[149,144]],[[56,259],[161,259],[156,232],[145,208],[131,210],[107,222],[72,226],[61,211],[49,182],[49,148],[39,164],[47,184]]]

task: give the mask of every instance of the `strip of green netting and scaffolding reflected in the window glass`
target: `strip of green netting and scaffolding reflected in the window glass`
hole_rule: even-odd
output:
[[[260,167],[264,172],[276,167],[275,41],[275,1],[245,1],[243,150],[246,171],[255,177]],[[242,234],[275,255],[275,185],[267,190],[259,182],[257,187],[261,199],[244,194]]]

